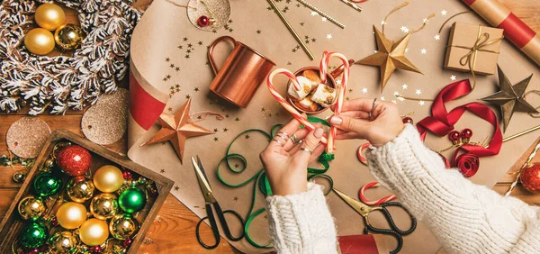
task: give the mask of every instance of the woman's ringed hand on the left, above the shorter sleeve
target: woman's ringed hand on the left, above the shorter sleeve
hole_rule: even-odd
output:
[[[320,127],[311,132],[299,129],[301,124],[295,119],[287,123],[260,154],[274,195],[305,192],[308,164],[318,159],[325,149],[320,143],[324,131]],[[290,138],[293,134],[298,141],[303,140],[301,144],[293,144]]]

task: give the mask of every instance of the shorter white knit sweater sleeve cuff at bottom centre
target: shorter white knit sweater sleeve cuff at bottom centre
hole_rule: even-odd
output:
[[[266,197],[270,236],[277,253],[337,253],[336,227],[322,188],[308,183],[308,191],[302,194]]]

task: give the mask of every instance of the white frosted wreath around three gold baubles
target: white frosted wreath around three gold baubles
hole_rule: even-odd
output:
[[[39,3],[75,9],[85,31],[72,57],[41,57],[24,47]],[[131,32],[142,13],[132,0],[3,0],[0,5],[0,111],[65,113],[116,90],[129,66]]]

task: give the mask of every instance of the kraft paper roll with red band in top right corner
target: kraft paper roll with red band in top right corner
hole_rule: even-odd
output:
[[[462,0],[492,26],[504,29],[504,36],[540,65],[540,36],[497,0]]]

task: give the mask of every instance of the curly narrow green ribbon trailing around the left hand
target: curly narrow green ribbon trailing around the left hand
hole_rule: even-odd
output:
[[[322,123],[323,125],[329,126],[328,122],[326,122],[323,119],[317,118],[317,117],[309,116],[308,121],[310,121],[310,122],[319,122],[319,123]],[[234,142],[237,141],[239,137],[241,137],[241,136],[243,136],[243,135],[245,135],[247,133],[259,133],[259,134],[262,134],[263,136],[265,136],[268,141],[272,141],[272,139],[274,139],[274,137],[275,137],[275,132],[278,130],[278,128],[281,128],[283,126],[284,126],[283,124],[275,124],[272,127],[272,129],[270,129],[269,133],[265,132],[263,130],[259,130],[259,129],[249,129],[249,130],[246,130],[244,132],[240,132],[230,142],[229,147],[227,148],[225,157],[223,157],[223,159],[220,160],[220,163],[218,164],[218,168],[216,170],[217,175],[218,175],[218,179],[220,179],[220,182],[223,183],[225,186],[237,188],[237,187],[246,186],[247,184],[249,184],[251,182],[255,182],[255,185],[253,186],[253,198],[251,199],[251,205],[250,205],[250,208],[249,208],[249,212],[247,212],[247,220],[246,220],[246,224],[244,226],[244,231],[246,233],[247,241],[256,248],[262,248],[262,249],[272,249],[273,248],[272,241],[268,241],[265,244],[257,243],[257,241],[253,240],[253,238],[251,237],[251,234],[249,233],[249,227],[250,227],[251,223],[255,220],[255,218],[257,218],[258,215],[260,215],[262,213],[265,213],[265,211],[266,211],[265,208],[259,208],[257,210],[255,208],[255,204],[256,204],[256,201],[257,201],[257,188],[264,195],[272,195],[272,188],[270,187],[270,183],[268,182],[268,179],[266,178],[265,168],[259,169],[255,175],[253,175],[252,177],[247,178],[247,180],[245,180],[243,182],[240,182],[238,184],[231,184],[221,176],[220,165],[223,164],[223,162],[226,162],[225,164],[227,165],[227,168],[230,170],[230,172],[235,173],[235,174],[241,174],[247,168],[247,159],[243,155],[241,155],[239,153],[230,153],[230,150],[231,150],[232,145],[234,144]],[[303,126],[302,126],[302,128],[303,128]],[[244,167],[239,168],[239,169],[233,168],[230,165],[229,159],[239,159],[242,162]],[[332,187],[334,185],[332,177],[330,177],[328,175],[325,175],[325,173],[330,168],[329,160],[332,160],[332,159],[334,159],[333,154],[323,153],[319,158],[319,162],[320,162],[320,164],[322,165],[323,168],[308,168],[308,174],[310,174],[310,176],[308,176],[308,180],[311,180],[311,179],[316,178],[316,177],[322,177],[322,178],[325,178],[325,179],[327,179],[329,181],[329,186],[330,186],[329,191],[327,191],[327,193],[325,195],[329,194],[329,192],[332,190]]]

